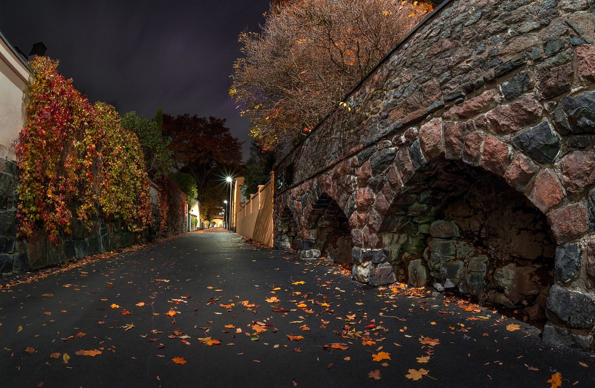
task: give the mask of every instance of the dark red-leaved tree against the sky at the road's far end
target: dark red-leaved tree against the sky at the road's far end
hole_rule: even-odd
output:
[[[231,136],[225,120],[181,114],[163,115],[163,135],[171,138],[177,170],[196,180],[196,195],[205,201],[205,187],[220,184],[221,171],[233,171],[242,162],[242,143]]]

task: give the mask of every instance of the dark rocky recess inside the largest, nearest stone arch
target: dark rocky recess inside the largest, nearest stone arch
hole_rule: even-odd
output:
[[[545,318],[556,249],[547,218],[484,168],[443,157],[420,165],[378,236],[400,281]]]

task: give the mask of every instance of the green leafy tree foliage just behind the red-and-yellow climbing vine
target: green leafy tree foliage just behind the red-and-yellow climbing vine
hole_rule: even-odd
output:
[[[161,174],[167,174],[173,166],[172,152],[167,149],[171,139],[164,139],[162,136],[162,124],[161,109],[154,120],[147,120],[136,115],[136,112],[128,112],[122,116],[122,126],[139,136],[147,173],[154,180],[157,180]]]

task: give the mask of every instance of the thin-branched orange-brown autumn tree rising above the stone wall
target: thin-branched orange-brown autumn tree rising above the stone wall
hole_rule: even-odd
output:
[[[265,147],[307,134],[433,6],[396,0],[284,0],[262,33],[240,34],[230,96]]]

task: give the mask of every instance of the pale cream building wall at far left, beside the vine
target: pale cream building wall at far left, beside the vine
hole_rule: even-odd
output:
[[[14,143],[27,117],[30,70],[0,36],[0,157],[16,159]]]

